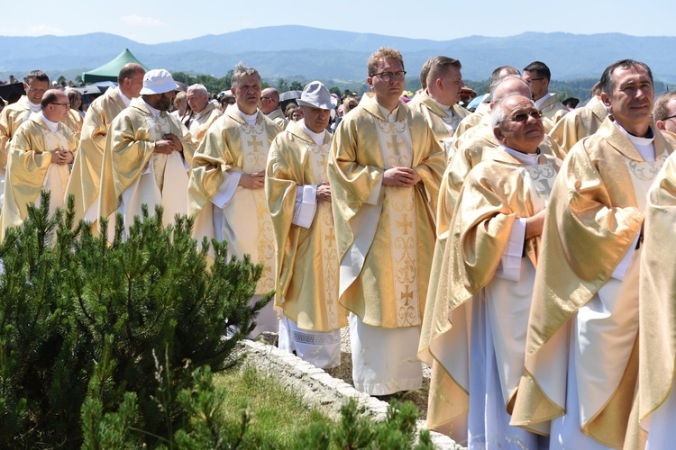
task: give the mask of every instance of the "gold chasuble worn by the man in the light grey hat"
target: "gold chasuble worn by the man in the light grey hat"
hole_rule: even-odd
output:
[[[269,149],[265,190],[277,252],[275,305],[300,329],[333,331],[347,326],[338,304],[338,250],[331,202],[316,202],[309,228],[292,223],[297,187],[328,182],[331,134],[317,145],[299,122],[277,135]]]

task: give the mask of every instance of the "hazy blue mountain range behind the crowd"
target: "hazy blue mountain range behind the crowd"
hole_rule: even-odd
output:
[[[404,55],[409,76],[416,76],[427,58],[446,55],[462,62],[466,79],[482,80],[498,66],[525,67],[544,61],[553,79],[598,77],[608,64],[621,58],[644,61],[653,76],[676,83],[674,37],[635,37],[619,33],[570,34],[525,32],[507,38],[470,36],[456,40],[415,40],[351,31],[330,31],[284,25],[220,35],[206,35],[148,45],[114,34],[81,36],[0,36],[0,76],[21,78],[41,68],[51,76],[74,77],[99,67],[128,48],[149,67],[170,71],[224,76],[238,61],[259,69],[264,78],[304,76],[314,79],[362,81],[366,60],[382,46]]]

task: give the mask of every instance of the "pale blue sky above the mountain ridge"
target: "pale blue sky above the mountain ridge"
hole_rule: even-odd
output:
[[[117,5],[133,5],[135,9],[119,9]],[[295,24],[432,40],[513,36],[525,31],[673,36],[675,11],[673,0],[114,0],[105,5],[82,0],[32,0],[27,4],[9,0],[2,6],[0,35],[69,36],[103,31],[151,44]]]

